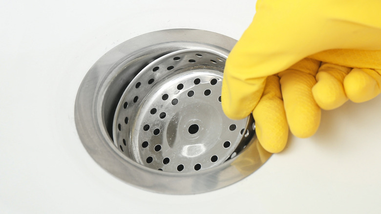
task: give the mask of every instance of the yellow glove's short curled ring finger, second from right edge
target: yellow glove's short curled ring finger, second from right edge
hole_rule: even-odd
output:
[[[347,100],[343,81],[351,68],[337,64],[322,63],[312,87],[312,94],[318,106],[325,110],[342,106]]]

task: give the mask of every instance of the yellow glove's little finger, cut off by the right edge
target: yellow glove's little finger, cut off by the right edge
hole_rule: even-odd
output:
[[[343,85],[351,101],[362,103],[371,100],[381,92],[381,70],[353,68],[344,78]]]

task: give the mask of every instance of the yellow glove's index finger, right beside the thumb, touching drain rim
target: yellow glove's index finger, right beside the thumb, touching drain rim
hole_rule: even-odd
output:
[[[262,147],[272,153],[282,151],[287,144],[288,125],[277,76],[267,77],[262,98],[254,108],[253,117],[255,132]]]

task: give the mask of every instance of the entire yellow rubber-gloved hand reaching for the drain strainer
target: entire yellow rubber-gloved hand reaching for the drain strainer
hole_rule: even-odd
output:
[[[374,98],[381,90],[380,11],[380,0],[258,0],[225,65],[225,114],[253,112],[261,145],[275,153],[286,146],[288,127],[297,137],[313,135],[320,108]]]

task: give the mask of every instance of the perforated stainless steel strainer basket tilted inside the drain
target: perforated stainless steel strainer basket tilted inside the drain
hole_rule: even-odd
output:
[[[116,146],[149,168],[186,172],[219,165],[248,143],[252,120],[233,121],[222,111],[222,58],[186,49],[143,68],[116,109]]]

